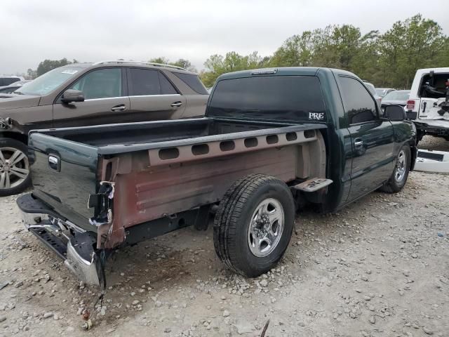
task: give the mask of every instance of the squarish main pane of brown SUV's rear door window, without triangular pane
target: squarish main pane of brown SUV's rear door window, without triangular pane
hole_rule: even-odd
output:
[[[160,95],[159,72],[157,70],[130,68],[129,95]]]

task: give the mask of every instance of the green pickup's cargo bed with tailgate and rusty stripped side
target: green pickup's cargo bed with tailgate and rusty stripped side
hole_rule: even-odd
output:
[[[203,118],[32,131],[34,194],[86,227],[99,213],[86,207],[89,198],[112,183],[112,247],[125,228],[213,204],[250,173],[286,182],[324,177],[320,128]]]

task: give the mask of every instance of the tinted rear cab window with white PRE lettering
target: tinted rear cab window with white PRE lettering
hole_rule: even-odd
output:
[[[246,77],[219,81],[207,114],[273,121],[324,121],[326,106],[318,77]]]

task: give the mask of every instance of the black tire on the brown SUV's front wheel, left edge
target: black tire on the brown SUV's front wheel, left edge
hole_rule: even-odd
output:
[[[3,149],[3,150],[2,150]],[[26,175],[26,178],[22,177],[19,178],[18,176],[15,176],[14,174],[9,175],[9,184],[6,183],[6,165],[2,160],[1,154],[0,154],[0,197],[6,197],[8,195],[18,194],[20,192],[23,192],[31,185],[31,174],[29,171],[29,161],[28,161],[28,147],[24,143],[21,143],[18,140],[11,139],[11,138],[0,138],[0,151],[3,154],[4,159],[9,160],[8,156],[12,156],[16,151],[19,150],[22,152],[22,154],[25,154],[25,157],[19,161],[14,166],[18,169],[27,169],[28,173]],[[24,173],[21,173],[24,175]],[[1,180],[3,177],[4,180]],[[6,186],[10,186],[9,188]]]

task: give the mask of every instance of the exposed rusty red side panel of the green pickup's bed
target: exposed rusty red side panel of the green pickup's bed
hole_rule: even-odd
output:
[[[206,143],[207,153],[203,146],[179,146],[177,158],[170,159],[161,159],[163,149],[102,159],[99,176],[113,180],[115,192],[112,223],[98,227],[98,248],[119,246],[134,225],[220,201],[232,182],[251,173],[267,173],[285,182],[326,174],[319,132],[233,141],[231,150],[220,141]]]

